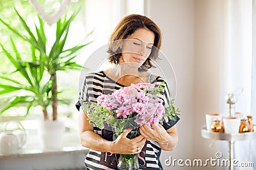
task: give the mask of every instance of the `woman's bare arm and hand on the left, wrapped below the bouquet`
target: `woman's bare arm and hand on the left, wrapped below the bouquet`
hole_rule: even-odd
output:
[[[143,136],[138,136],[134,139],[126,138],[131,129],[125,130],[115,141],[103,139],[99,134],[93,132],[93,125],[89,123],[88,117],[83,110],[79,111],[79,130],[81,145],[99,152],[110,152],[120,154],[135,154],[140,153],[147,139]]]

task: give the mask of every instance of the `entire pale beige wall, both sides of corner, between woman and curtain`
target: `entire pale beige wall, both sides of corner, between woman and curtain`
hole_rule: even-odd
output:
[[[225,2],[223,0],[145,1],[145,13],[163,31],[163,52],[172,62],[177,78],[177,103],[182,117],[177,124],[179,144],[164,152],[161,162],[172,159],[215,159],[216,152],[227,157],[225,141],[201,137],[205,113],[220,112],[225,96],[219,86],[224,67]],[[224,145],[224,147],[220,146]],[[211,147],[210,147],[211,146]],[[166,167],[193,169],[193,167]],[[206,167],[194,167],[205,169]],[[207,169],[221,169],[208,166]]]

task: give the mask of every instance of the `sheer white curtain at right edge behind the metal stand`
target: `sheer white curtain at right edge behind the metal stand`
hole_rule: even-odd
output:
[[[256,120],[255,1],[227,1],[225,34],[227,56],[224,68],[226,80],[223,82],[227,92],[243,87],[242,94],[237,96],[236,111],[242,112],[244,116],[253,115],[254,123]],[[253,162],[256,165],[256,140],[236,141],[235,159],[239,160],[239,163]]]

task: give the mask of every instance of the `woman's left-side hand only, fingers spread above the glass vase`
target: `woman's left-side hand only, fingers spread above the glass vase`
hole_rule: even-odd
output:
[[[133,139],[128,139],[126,136],[131,132],[132,129],[126,129],[115,141],[113,141],[113,145],[111,147],[112,153],[120,153],[120,154],[136,154],[140,153],[141,149],[145,145],[147,138],[143,136],[137,136]]]

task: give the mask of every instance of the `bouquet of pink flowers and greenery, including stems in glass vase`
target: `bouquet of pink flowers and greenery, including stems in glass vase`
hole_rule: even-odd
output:
[[[175,119],[174,116],[179,115],[179,109],[173,107],[173,100],[164,108],[163,99],[157,97],[163,92],[164,83],[157,87],[152,83],[131,84],[112,94],[102,94],[97,97],[97,103],[83,103],[82,108],[90,124],[113,131],[114,136],[120,135],[125,129],[134,129],[127,135],[127,138],[132,139],[140,135],[140,125],[150,125],[152,122],[157,125],[163,117]],[[138,169],[138,160],[134,162],[134,157],[136,155],[120,155],[118,168]]]

